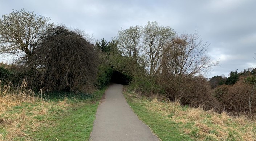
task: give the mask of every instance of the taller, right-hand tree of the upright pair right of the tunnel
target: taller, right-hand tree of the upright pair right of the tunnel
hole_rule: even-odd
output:
[[[148,21],[143,27],[143,51],[146,54],[150,76],[154,76],[159,71],[163,48],[171,42],[174,35],[175,32],[171,27],[159,26],[156,21]]]

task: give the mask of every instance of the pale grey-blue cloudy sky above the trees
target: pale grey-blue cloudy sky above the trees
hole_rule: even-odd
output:
[[[56,24],[111,40],[118,30],[157,21],[177,33],[194,33],[219,59],[208,77],[256,67],[255,0],[0,0],[0,16],[29,10]]]

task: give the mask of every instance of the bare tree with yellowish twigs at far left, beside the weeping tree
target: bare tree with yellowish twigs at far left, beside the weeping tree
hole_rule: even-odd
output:
[[[15,55],[19,61],[27,62],[45,30],[52,26],[49,20],[25,10],[4,14],[0,18],[0,53]]]

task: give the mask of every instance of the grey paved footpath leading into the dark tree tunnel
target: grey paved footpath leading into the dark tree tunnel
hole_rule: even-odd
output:
[[[159,141],[131,110],[123,96],[123,85],[113,84],[99,104],[90,141]]]

